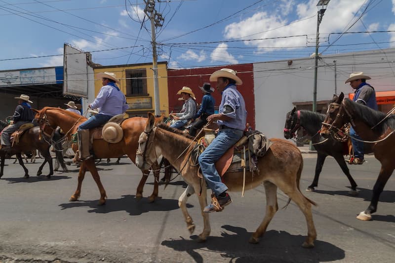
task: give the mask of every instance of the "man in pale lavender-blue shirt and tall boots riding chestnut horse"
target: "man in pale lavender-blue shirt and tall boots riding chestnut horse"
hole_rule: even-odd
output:
[[[99,127],[109,121],[113,116],[125,113],[129,106],[126,103],[125,95],[119,90],[116,83],[119,83],[116,75],[111,72],[99,73],[97,78],[102,78],[99,94],[94,102],[89,104],[90,109],[99,108],[99,113],[90,116],[78,127],[78,148],[75,161],[83,161],[91,157],[89,152],[89,129]]]

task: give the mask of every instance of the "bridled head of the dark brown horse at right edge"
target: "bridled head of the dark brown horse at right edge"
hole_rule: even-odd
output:
[[[325,120],[322,122],[321,132],[322,137],[327,138],[331,133],[337,133],[344,124],[348,123],[349,114],[345,109],[345,101],[343,92],[339,97],[333,95],[332,102],[329,104],[326,112]]]

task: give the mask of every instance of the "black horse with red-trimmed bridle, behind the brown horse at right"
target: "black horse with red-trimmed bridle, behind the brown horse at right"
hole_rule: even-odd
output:
[[[296,111],[296,108],[293,108],[292,111],[287,113],[285,118],[285,139],[291,139],[295,137],[296,131],[299,128],[303,128],[307,134],[312,137],[312,143],[314,144],[314,147],[317,151],[316,173],[314,175],[313,183],[307,188],[307,191],[314,191],[315,187],[318,186],[319,174],[321,173],[325,158],[329,155],[335,158],[343,173],[350,181],[351,190],[349,191],[349,194],[357,195],[358,192],[356,191],[356,182],[351,176],[350,170],[344,161],[344,142],[337,141],[332,137],[329,137],[325,140],[319,135],[319,130],[324,118],[325,114],[310,111]]]

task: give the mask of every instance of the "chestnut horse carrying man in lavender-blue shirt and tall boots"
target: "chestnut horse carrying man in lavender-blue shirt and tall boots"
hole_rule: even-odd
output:
[[[44,133],[52,134],[53,131],[59,126],[66,134],[68,140],[71,140],[71,135],[77,132],[78,126],[86,120],[84,116],[80,116],[76,113],[65,111],[59,108],[44,107],[40,111],[36,111],[36,119],[39,121],[40,128]],[[101,140],[93,140],[93,152],[95,158],[118,158],[123,154],[126,154],[133,162],[136,159],[136,150],[138,147],[138,138],[144,126],[146,118],[133,117],[126,119],[122,122],[121,127],[123,130],[123,138],[119,143],[110,144]],[[73,146],[73,150],[76,149],[76,145]],[[79,168],[78,175],[78,186],[76,192],[70,197],[70,201],[77,201],[81,194],[81,185],[85,176],[85,172],[88,170],[93,179],[95,180],[97,187],[100,191],[99,205],[106,202],[106,191],[100,181],[99,174],[97,172],[95,158],[90,158],[83,161]],[[153,168],[158,168],[157,163],[153,164]],[[137,187],[136,198],[140,199],[143,196],[143,187],[147,181],[150,171],[147,169],[142,170],[143,177]],[[157,169],[154,169],[157,170]],[[159,173],[155,172],[155,183],[154,191],[151,194],[149,200],[153,202],[155,197],[158,196],[158,177]]]

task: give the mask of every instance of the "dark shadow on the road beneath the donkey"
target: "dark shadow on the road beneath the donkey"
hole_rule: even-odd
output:
[[[195,240],[170,239],[162,241],[161,245],[175,251],[188,253],[195,262],[203,263],[205,260],[199,250],[209,250],[220,253],[223,261],[228,262],[331,262],[345,258],[345,251],[328,242],[316,240],[314,249],[306,250],[299,246],[305,236],[291,235],[286,231],[270,230],[265,232],[265,238],[259,244],[249,244],[248,239],[252,232],[245,228],[223,225],[221,236],[210,236],[209,242],[197,243]],[[233,233],[229,233],[229,232]],[[197,235],[191,236],[196,239]]]

